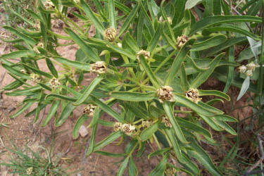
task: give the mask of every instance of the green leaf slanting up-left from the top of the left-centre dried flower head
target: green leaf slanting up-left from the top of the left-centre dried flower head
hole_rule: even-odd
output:
[[[83,0],[82,0],[83,1]],[[83,39],[81,39],[73,30],[70,30],[68,27],[64,27],[65,32],[67,32],[70,37],[73,39],[74,42],[76,42],[77,45],[80,46],[82,51],[84,51],[84,54],[88,56],[92,61],[101,61],[99,56],[94,52],[94,50],[89,46],[86,42],[84,42]]]

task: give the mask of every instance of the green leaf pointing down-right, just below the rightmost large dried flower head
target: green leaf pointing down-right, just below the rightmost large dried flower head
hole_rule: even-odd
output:
[[[182,96],[180,94],[174,93],[175,101],[183,104],[184,106],[187,106],[188,108],[191,108],[192,110],[196,111],[196,113],[201,113],[201,115],[206,116],[213,116],[215,113],[208,111],[206,108],[203,108],[197,103],[194,103],[194,101],[191,101],[185,96]]]

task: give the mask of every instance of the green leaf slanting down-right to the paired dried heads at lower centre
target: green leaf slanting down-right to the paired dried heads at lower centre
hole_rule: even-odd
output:
[[[106,103],[103,103],[103,101],[96,99],[95,96],[92,96],[92,101],[97,106],[99,106],[103,111],[108,113],[108,115],[111,115],[113,118],[115,118],[115,120],[118,120],[118,122],[125,122],[125,120],[121,118],[120,115],[116,111],[113,111],[113,109],[110,106],[108,106]]]

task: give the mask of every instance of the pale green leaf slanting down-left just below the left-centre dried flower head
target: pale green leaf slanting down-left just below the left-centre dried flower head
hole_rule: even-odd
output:
[[[83,94],[79,96],[77,101],[73,103],[73,105],[77,106],[84,101],[86,101],[89,97],[89,95],[94,91],[95,87],[103,80],[103,75],[100,75],[99,77],[94,78],[94,80],[89,84],[89,86],[84,90]]]

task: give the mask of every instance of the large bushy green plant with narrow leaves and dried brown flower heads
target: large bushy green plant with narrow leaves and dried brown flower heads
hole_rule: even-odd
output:
[[[4,26],[13,34],[13,39],[4,42],[11,42],[14,51],[0,56],[1,64],[15,81],[1,91],[8,96],[25,96],[23,107],[11,118],[37,104],[25,115],[34,115],[36,122],[39,113],[51,105],[42,126],[55,118],[59,127],[84,104],[87,107],[75,123],[73,137],[77,138],[80,126],[92,118],[87,155],[96,152],[122,157],[117,175],[126,169],[130,175],[139,174],[133,157],[142,155],[146,141],[158,147],[149,153],[149,159],[162,156],[149,175],[199,175],[201,167],[211,175],[222,175],[201,142],[215,144],[209,129],[236,135],[227,122],[237,120],[213,107],[222,99],[229,101],[227,94],[199,87],[221,68],[229,69],[224,75],[224,91],[236,83],[230,81],[234,67],[239,66],[234,62],[234,45],[246,44],[247,37],[259,41],[260,34],[246,30],[244,25],[257,26],[262,18],[255,13],[232,15],[225,1],[212,2],[204,1],[201,11],[195,6],[201,1],[160,4],[139,0],[124,5],[113,0],[89,4],[84,0],[51,0],[37,1],[36,8],[27,9],[30,19],[13,13],[29,27]],[[80,23],[68,17],[68,8],[75,8],[72,15]],[[54,32],[53,25],[63,26],[65,34]],[[58,54],[58,39],[80,46],[75,61]],[[49,73],[39,69],[41,60]],[[258,65],[261,70],[262,65]],[[62,69],[56,69],[58,66]],[[247,73],[249,67],[241,72]],[[84,74],[90,73],[96,77],[85,87]],[[203,101],[203,96],[219,98]],[[103,120],[103,113],[113,121]],[[95,143],[98,125],[111,127],[113,132]],[[120,143],[128,139],[125,153],[103,151],[118,139]]]

